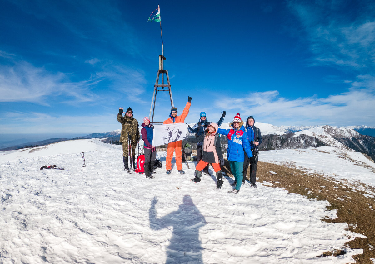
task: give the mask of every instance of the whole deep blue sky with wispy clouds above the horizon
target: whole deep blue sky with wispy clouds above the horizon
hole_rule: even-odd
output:
[[[1,1],[0,134],[120,129],[150,113],[161,54],[186,122],[375,126],[374,1]],[[155,121],[170,113],[159,92]],[[0,135],[0,137],[1,137]]]

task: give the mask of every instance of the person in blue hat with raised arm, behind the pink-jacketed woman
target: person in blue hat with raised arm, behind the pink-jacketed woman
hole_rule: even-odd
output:
[[[225,111],[222,111],[221,112],[221,118],[216,123],[217,126],[221,126],[221,124],[224,121],[224,117],[225,117]],[[197,138],[198,136],[204,134],[204,131],[208,128],[208,126],[210,124],[211,124],[211,122],[209,122],[207,120],[206,112],[201,112],[198,123],[196,123],[193,126],[193,128],[191,128],[189,125],[187,125],[187,130],[189,131],[189,133],[195,134],[195,137]],[[203,150],[203,143],[198,142],[196,144],[196,164],[198,164],[199,161],[202,159],[202,150]],[[203,174],[206,175],[206,176],[211,176],[210,172],[208,172],[208,164],[207,164],[207,166],[204,167]]]

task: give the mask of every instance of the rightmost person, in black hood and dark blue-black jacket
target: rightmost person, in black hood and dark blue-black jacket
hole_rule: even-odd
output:
[[[253,116],[249,116],[246,120],[246,127],[245,131],[248,133],[248,138],[250,142],[250,148],[253,153],[254,159],[249,159],[248,155],[245,152],[245,161],[243,162],[243,172],[242,172],[242,183],[246,180],[246,174],[248,171],[248,167],[250,164],[250,176],[249,181],[251,186],[257,188],[257,184],[255,184],[255,180],[257,178],[257,163],[258,163],[258,153],[259,153],[259,145],[263,142],[262,135],[260,133],[260,129],[254,126],[255,120]]]

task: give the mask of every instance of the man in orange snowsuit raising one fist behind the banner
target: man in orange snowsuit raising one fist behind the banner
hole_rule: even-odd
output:
[[[187,114],[189,114],[190,109],[190,102],[191,97],[187,97],[187,103],[182,111],[182,114],[180,116],[177,116],[177,108],[172,107],[171,108],[171,114],[169,114],[169,118],[163,122],[163,124],[175,124],[175,123],[184,123],[185,118]],[[177,171],[179,174],[185,174],[185,172],[182,170],[182,140],[168,143],[168,150],[166,152],[166,174],[170,174],[172,170],[172,158],[173,158],[173,152],[175,152],[176,156],[176,165],[177,165]]]

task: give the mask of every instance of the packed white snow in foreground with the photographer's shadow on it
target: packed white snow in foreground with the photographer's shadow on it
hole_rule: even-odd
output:
[[[344,264],[362,253],[317,257],[360,236],[321,221],[336,217],[326,201],[267,182],[229,194],[227,176],[220,190],[214,176],[191,182],[193,162],[180,175],[173,159],[166,175],[165,152],[163,168],[145,179],[125,173],[121,155],[98,139],[0,154],[0,263]],[[53,164],[69,171],[39,170]]]

